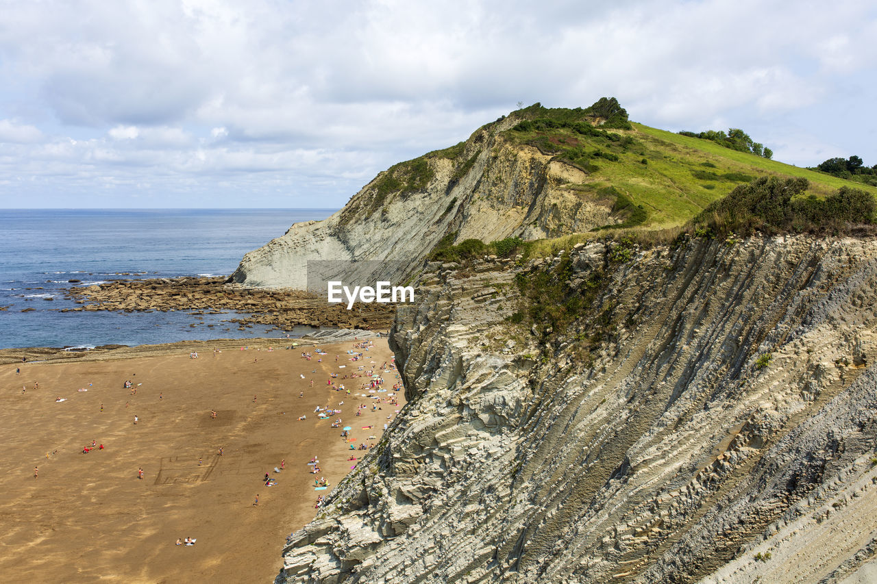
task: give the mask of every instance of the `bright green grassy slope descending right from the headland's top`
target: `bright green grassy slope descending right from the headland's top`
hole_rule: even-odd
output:
[[[686,224],[738,184],[761,176],[806,178],[807,196],[824,198],[847,186],[877,197],[873,187],[738,152],[705,139],[632,123],[603,130],[605,126],[591,124],[593,116],[587,114],[588,110],[531,106],[513,112],[512,116],[525,118],[524,123],[503,134],[511,142],[535,146],[586,171],[584,182],[568,185],[583,196],[615,194],[622,203],[617,205],[619,210],[629,203],[644,210],[645,214],[638,213],[645,218],[640,229]]]

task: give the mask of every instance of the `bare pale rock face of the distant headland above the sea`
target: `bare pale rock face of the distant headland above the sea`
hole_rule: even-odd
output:
[[[381,198],[378,186],[392,169],[378,174],[332,217],[293,224],[282,237],[246,253],[229,281],[307,289],[308,260],[341,260],[331,275],[366,285],[374,281],[372,264],[341,262],[391,260],[398,264],[384,264],[381,278],[397,283],[451,232],[458,242],[489,242],[557,237],[616,223],[610,218],[613,201],[571,188],[588,181],[580,168],[500,135],[517,121],[502,118],[482,127],[454,160],[427,155],[433,176],[424,189]]]

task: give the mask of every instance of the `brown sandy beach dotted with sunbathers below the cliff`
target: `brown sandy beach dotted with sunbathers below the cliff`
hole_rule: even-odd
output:
[[[242,344],[249,349],[239,350]],[[301,358],[312,347],[287,350],[277,340],[273,352],[264,340],[201,342],[198,359],[189,358],[189,345],[0,365],[4,582],[270,582],[282,566],[285,538],[315,515],[317,495],[331,490],[314,491],[308,461],[316,455],[320,475],[334,486],[354,464],[347,458],[363,454],[350,451],[331,427],[335,417],[318,420],[315,407],[340,407],[336,417],[353,427],[359,444],[380,438],[403,404],[381,403],[381,410],[356,417],[359,403],[376,401],[356,390],[366,378],[341,379],[371,361],[392,363],[384,339],[374,339],[358,362],[346,354],[353,342],[319,345],[329,353],[322,363],[316,355]],[[214,356],[213,346],[222,352]],[[327,387],[331,372],[352,395]],[[396,371],[382,376],[393,392]],[[55,402],[59,396],[66,401]],[[298,421],[303,414],[307,419]],[[362,430],[366,425],[374,430]],[[92,440],[104,450],[82,453]],[[282,459],[286,468],[277,474]],[[266,488],[265,473],[279,484]],[[196,545],[175,545],[186,537]]]

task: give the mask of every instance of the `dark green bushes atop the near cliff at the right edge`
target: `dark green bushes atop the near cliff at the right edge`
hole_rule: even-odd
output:
[[[712,203],[692,221],[695,235],[725,235],[731,231],[842,232],[850,224],[872,224],[873,196],[842,187],[830,196],[806,195],[803,178],[762,176],[739,185],[724,199]]]

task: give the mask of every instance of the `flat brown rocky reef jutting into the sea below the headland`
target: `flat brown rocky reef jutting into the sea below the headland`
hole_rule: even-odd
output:
[[[254,289],[226,284],[225,278],[183,277],[150,280],[118,280],[87,288],[68,288],[65,295],[82,304],[61,312],[120,310],[151,312],[191,310],[198,314],[225,311],[248,313],[229,318],[243,330],[268,324],[290,331],[296,325],[344,329],[389,330],[395,309],[387,304],[326,303],[322,296],[303,290]]]

